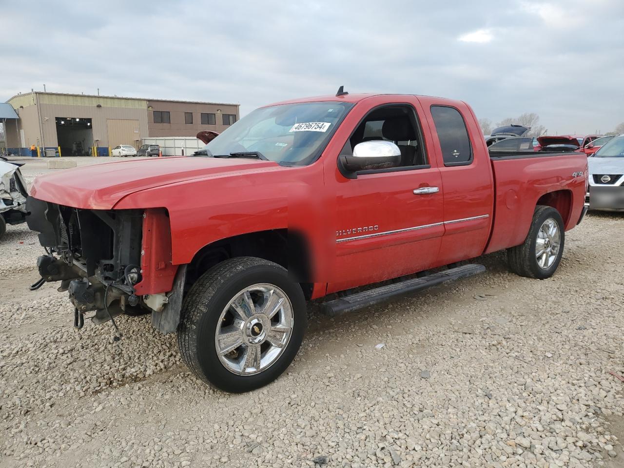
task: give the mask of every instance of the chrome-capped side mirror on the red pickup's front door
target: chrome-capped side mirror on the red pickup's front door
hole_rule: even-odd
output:
[[[356,178],[361,170],[388,169],[401,163],[401,150],[385,140],[373,140],[355,145],[353,156],[340,155],[338,168],[347,178]]]

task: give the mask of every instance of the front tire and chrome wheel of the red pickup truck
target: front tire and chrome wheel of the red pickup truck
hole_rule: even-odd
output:
[[[261,258],[231,258],[189,291],[178,347],[197,378],[223,391],[246,392],[288,368],[306,322],[303,291],[285,268]]]

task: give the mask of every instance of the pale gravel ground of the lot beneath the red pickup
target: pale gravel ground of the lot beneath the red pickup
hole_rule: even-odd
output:
[[[120,318],[117,343],[74,331],[66,293],[27,291],[41,247],[9,227],[0,467],[622,467],[623,227],[589,215],[549,280],[497,253],[451,286],[313,314],[287,373],[241,395],[193,378],[149,316]]]

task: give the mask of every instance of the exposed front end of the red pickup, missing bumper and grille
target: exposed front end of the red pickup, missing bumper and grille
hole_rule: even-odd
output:
[[[96,324],[123,313],[165,313],[177,268],[164,210],[91,210],[33,197],[26,205],[28,227],[47,253],[37,259],[41,280],[32,288],[61,281],[77,328],[89,311]]]

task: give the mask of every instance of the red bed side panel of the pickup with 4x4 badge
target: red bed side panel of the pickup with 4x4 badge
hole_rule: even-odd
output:
[[[565,230],[577,224],[587,190],[584,153],[533,153],[490,160],[494,225],[485,253],[523,243],[538,204],[555,206]]]

